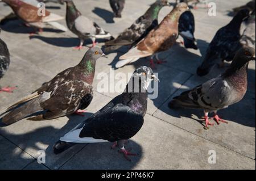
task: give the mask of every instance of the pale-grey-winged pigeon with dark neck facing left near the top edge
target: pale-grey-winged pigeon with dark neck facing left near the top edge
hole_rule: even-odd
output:
[[[112,38],[109,32],[106,32],[98,26],[98,24],[92,22],[90,19],[81,15],[81,12],[76,9],[72,0],[63,0],[67,3],[66,22],[70,31],[75,33],[80,39],[80,45],[76,49],[81,49],[85,39],[91,39],[93,46],[96,46],[96,39]]]

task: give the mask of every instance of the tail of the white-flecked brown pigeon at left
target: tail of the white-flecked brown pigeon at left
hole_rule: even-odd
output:
[[[22,106],[3,116],[2,122],[6,125],[13,124],[23,119],[24,117],[27,117],[39,111],[43,111],[43,109],[40,107],[40,99],[32,99],[29,102],[23,104]]]

